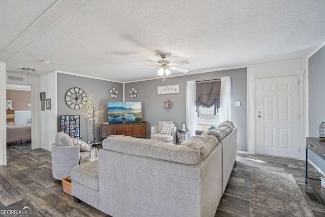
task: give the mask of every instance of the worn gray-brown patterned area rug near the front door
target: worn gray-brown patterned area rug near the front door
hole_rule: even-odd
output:
[[[314,216],[291,174],[254,170],[249,207],[250,217]]]

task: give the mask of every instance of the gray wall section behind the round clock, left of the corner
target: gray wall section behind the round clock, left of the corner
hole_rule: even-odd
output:
[[[60,115],[80,115],[80,136],[82,140],[93,140],[92,121],[85,118],[83,113],[85,108],[74,110],[68,107],[64,97],[66,92],[72,87],[80,87],[83,89],[87,97],[95,95],[95,101],[100,101],[100,105],[104,107],[105,112],[101,120],[95,122],[96,138],[99,141],[101,123],[107,121],[107,102],[123,102],[123,84],[99,79],[85,78],[80,76],[57,73],[57,115],[58,122]],[[115,87],[118,90],[117,98],[111,98],[109,90]],[[59,126],[59,125],[58,125]]]

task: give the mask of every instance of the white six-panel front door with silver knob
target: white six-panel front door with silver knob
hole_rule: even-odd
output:
[[[299,77],[256,79],[256,154],[299,158]]]

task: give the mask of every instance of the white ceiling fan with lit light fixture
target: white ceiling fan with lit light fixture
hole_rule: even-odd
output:
[[[159,68],[157,75],[163,76],[164,81],[165,81],[165,77],[171,73],[170,70],[174,70],[174,71],[182,72],[182,73],[188,72],[187,69],[181,69],[181,68],[175,67],[175,66],[178,66],[178,65],[189,64],[188,61],[184,60],[184,61],[171,63],[170,61],[165,60],[165,58],[166,58],[165,53],[161,53],[160,56],[161,56],[161,58],[163,58],[163,60],[159,60],[157,62],[153,61],[153,60],[150,60],[150,59],[147,59],[147,60],[150,61],[150,62],[153,62],[154,64],[157,65],[156,67]],[[152,67],[152,68],[156,68],[156,67]]]

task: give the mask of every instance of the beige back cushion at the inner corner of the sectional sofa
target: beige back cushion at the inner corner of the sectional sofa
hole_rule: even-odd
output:
[[[215,136],[192,136],[184,140],[181,145],[200,150],[202,160],[208,156],[218,143],[218,139]]]

